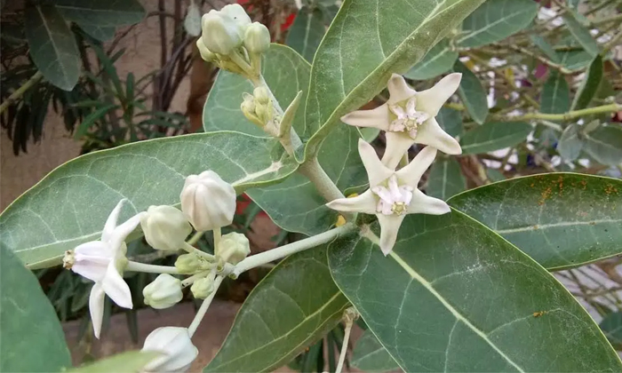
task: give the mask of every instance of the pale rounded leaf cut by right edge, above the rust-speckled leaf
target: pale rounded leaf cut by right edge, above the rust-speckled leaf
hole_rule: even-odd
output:
[[[598,163],[618,165],[622,162],[622,128],[613,123],[586,133],[584,150]]]

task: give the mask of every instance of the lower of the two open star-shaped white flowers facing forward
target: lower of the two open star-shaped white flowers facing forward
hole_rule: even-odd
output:
[[[380,223],[380,249],[387,255],[397,239],[406,214],[442,215],[450,212],[447,203],[421,192],[417,185],[435,160],[436,149],[425,147],[399,171],[380,162],[370,144],[359,139],[359,155],[370,180],[370,189],[354,198],[340,198],[326,205],[333,210],[376,214]]]

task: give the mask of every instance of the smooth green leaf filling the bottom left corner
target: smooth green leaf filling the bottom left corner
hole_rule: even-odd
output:
[[[35,275],[5,248],[0,248],[0,280],[0,371],[52,372],[70,367],[54,308]]]

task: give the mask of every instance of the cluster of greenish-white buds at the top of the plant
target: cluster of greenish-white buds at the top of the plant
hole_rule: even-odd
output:
[[[261,55],[270,47],[270,32],[261,23],[251,22],[241,5],[229,4],[203,14],[201,28],[196,46],[203,60],[235,74],[259,76]]]

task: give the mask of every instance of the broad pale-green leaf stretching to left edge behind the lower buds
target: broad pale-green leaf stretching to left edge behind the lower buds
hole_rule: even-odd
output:
[[[96,240],[122,198],[121,219],[154,204],[178,204],[184,179],[216,171],[238,192],[275,183],[297,168],[280,144],[239,132],[141,141],[63,164],[0,215],[0,246],[28,266],[57,264],[65,250]],[[33,234],[36,233],[36,234]]]

